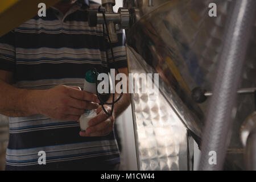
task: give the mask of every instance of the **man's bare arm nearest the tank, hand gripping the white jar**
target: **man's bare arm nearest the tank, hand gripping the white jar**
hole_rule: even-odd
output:
[[[127,68],[121,68],[118,69],[119,73],[125,73],[126,76],[128,76],[128,70]],[[123,82],[123,84],[127,84],[127,88],[129,88],[129,79],[126,79],[127,82]],[[119,97],[119,94],[115,94],[115,100]],[[107,102],[112,102],[112,98],[110,97]],[[88,129],[86,131],[80,131],[80,136],[82,137],[100,137],[108,135],[110,132],[113,131],[114,127],[114,121],[115,118],[117,118],[123,111],[127,109],[127,107],[130,105],[131,97],[129,93],[123,93],[122,98],[114,104],[114,111],[113,115],[109,116],[102,110],[102,107],[99,106],[97,109],[97,116],[93,119],[90,119],[88,122]],[[104,106],[106,111],[110,113],[111,111],[111,105],[105,105]]]

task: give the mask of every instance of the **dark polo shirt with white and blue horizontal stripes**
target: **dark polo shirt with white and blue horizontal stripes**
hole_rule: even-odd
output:
[[[56,85],[82,88],[90,69],[108,73],[114,64],[103,27],[88,26],[88,10],[98,6],[93,1],[76,2],[65,16],[51,7],[46,17],[35,16],[2,36],[0,69],[13,72],[14,86],[24,89]],[[117,32],[114,57],[117,67],[124,68],[125,36],[122,30]],[[9,118],[9,126],[7,170],[108,169],[119,163],[113,132],[106,137],[80,137],[77,121],[58,121],[44,115]],[[38,163],[39,151],[46,152],[45,165]]]

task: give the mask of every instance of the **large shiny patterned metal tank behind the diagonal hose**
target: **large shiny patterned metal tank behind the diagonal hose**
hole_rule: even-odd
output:
[[[216,17],[208,15],[210,3],[217,5]],[[133,94],[139,168],[162,169],[161,160],[164,160],[168,165],[163,169],[191,169],[191,137],[201,146],[210,104],[210,99],[196,102],[192,97],[193,90],[206,90],[207,97],[214,90],[225,31],[233,12],[233,1],[124,0],[123,7],[135,8],[137,18],[133,26],[126,30],[130,73],[159,73],[158,100],[151,101],[144,94]],[[252,94],[256,87],[255,50],[256,23],[243,64],[239,85],[242,90],[237,92],[236,114],[230,129],[232,133],[228,135],[230,140],[224,163],[224,169],[228,170],[246,169],[243,160],[246,152],[240,139],[240,130],[243,121],[255,110],[255,98]],[[244,93],[243,88],[252,89]],[[156,115],[154,108],[158,110]],[[172,140],[169,141],[172,146],[169,149],[173,152],[169,152],[166,147],[166,152],[162,154],[158,139],[145,143],[144,138],[150,139],[150,136],[158,135],[154,121],[168,123],[165,128],[169,132],[161,130],[163,135],[159,136],[162,136],[163,146],[168,146],[168,141],[164,143],[164,136],[166,140]],[[161,126],[164,127],[164,124]],[[179,134],[180,140],[177,139]],[[187,158],[183,158],[184,155]],[[187,162],[183,163],[184,159]]]

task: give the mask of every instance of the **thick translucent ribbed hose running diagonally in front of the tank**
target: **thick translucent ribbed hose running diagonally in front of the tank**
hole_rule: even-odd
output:
[[[207,121],[203,132],[199,170],[221,170],[228,148],[238,85],[255,18],[255,0],[233,1],[234,9],[224,39],[224,48]],[[212,155],[217,163],[210,163]]]

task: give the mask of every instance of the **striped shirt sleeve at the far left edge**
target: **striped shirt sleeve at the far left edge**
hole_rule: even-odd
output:
[[[15,55],[15,38],[11,31],[0,38],[0,70],[14,72]]]

